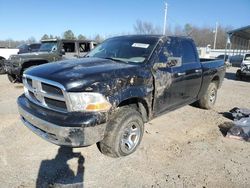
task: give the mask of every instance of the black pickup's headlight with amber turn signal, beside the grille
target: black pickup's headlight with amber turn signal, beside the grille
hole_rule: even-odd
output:
[[[104,112],[111,104],[100,93],[67,93],[70,111]]]

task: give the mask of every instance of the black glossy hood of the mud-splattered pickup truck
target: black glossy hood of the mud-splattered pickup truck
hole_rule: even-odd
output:
[[[142,67],[101,58],[81,58],[48,63],[28,69],[25,74],[58,82],[67,91],[96,91],[117,84],[123,87],[135,77],[138,80],[140,74],[145,74]]]

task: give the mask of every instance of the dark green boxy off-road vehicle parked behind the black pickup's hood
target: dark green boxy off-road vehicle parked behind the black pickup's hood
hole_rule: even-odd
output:
[[[34,66],[59,61],[84,57],[97,43],[91,40],[42,40],[38,52],[11,55],[5,61],[4,69],[10,82],[21,82],[23,72]]]

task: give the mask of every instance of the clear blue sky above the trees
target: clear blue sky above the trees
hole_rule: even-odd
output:
[[[167,0],[167,23],[234,28],[250,25],[250,0]],[[163,0],[0,0],[0,40],[37,40],[71,29],[88,38],[133,33],[136,20],[163,26]]]

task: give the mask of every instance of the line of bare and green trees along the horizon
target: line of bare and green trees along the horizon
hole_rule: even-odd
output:
[[[133,34],[162,34],[162,28],[159,26],[155,26],[154,24],[146,21],[137,20],[133,25],[134,31]],[[217,42],[216,48],[225,48],[228,30],[231,30],[232,27],[227,26],[223,27],[221,25],[218,26],[217,32]],[[182,35],[189,36],[194,39],[195,43],[199,47],[206,47],[207,45],[213,46],[214,36],[215,36],[215,28],[210,26],[198,27],[192,24],[185,24],[184,26],[175,26],[171,28],[170,26],[166,29],[167,35]],[[112,35],[111,35],[112,36]],[[63,32],[62,36],[56,36],[52,34],[44,34],[40,40],[45,39],[86,39],[86,36],[83,34],[75,35],[72,30],[67,30]],[[93,40],[97,42],[102,42],[105,37],[97,34]],[[40,41],[39,40],[39,41]],[[15,41],[12,39],[8,40],[0,40],[0,47],[9,47],[15,48],[20,44],[24,43],[34,43],[38,42],[34,37],[30,37],[27,40]]]

